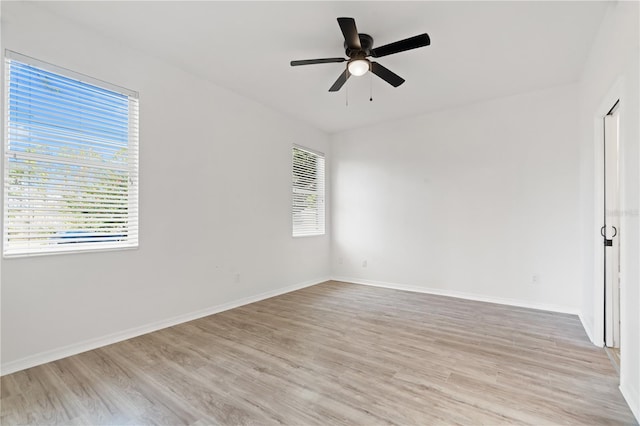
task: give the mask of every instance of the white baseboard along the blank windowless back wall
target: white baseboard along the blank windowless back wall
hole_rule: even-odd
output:
[[[532,303],[517,299],[508,299],[503,297],[484,296],[481,294],[465,293],[455,290],[443,290],[439,288],[421,287],[415,285],[396,284],[382,281],[362,280],[359,278],[351,277],[333,277],[334,281],[344,281],[353,284],[369,285],[373,287],[384,287],[394,290],[413,291],[416,293],[436,294],[439,296],[456,297],[458,299],[475,300],[478,302],[497,303],[499,305],[518,306],[521,308],[538,309],[541,311],[559,312],[563,314],[580,315],[580,310],[577,308],[561,305],[553,305],[547,303]]]

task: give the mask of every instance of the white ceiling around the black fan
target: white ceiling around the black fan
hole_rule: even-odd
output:
[[[591,1],[39,5],[329,133],[577,81],[607,10]],[[423,32],[431,46],[378,59],[407,80],[398,88],[367,75],[329,93],[344,64],[289,61],[344,56],[338,16],[355,18],[374,47]]]

